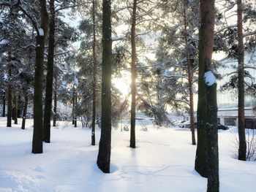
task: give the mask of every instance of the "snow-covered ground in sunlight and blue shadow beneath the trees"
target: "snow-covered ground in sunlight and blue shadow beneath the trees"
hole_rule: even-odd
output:
[[[89,128],[60,123],[43,154],[31,154],[32,121],[25,130],[0,118],[0,191],[205,192],[207,180],[194,170],[196,147],[186,128],[137,128],[137,148],[129,131],[112,131],[111,173],[97,169],[98,145]],[[220,191],[255,192],[256,162],[234,158],[233,131],[219,131]],[[97,144],[100,131],[97,129]]]

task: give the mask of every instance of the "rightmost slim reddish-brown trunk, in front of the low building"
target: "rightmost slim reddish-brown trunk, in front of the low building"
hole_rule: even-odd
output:
[[[238,28],[238,159],[246,161],[246,138],[244,130],[244,40],[243,40],[243,9],[241,0],[237,0]]]

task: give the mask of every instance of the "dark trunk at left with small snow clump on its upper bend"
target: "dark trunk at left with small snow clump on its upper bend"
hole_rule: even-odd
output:
[[[48,33],[46,1],[39,0],[41,28],[37,31],[36,64],[34,71],[34,131],[32,153],[42,153],[42,75],[45,39]]]

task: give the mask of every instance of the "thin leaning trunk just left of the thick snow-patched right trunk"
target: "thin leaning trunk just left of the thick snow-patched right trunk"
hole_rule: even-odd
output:
[[[194,94],[193,94],[193,72],[192,64],[189,58],[189,42],[187,40],[187,5],[184,4],[184,31],[185,31],[185,45],[186,45],[186,55],[187,55],[187,75],[189,80],[189,116],[190,116],[190,131],[192,137],[192,145],[195,145],[195,128],[194,128]]]

